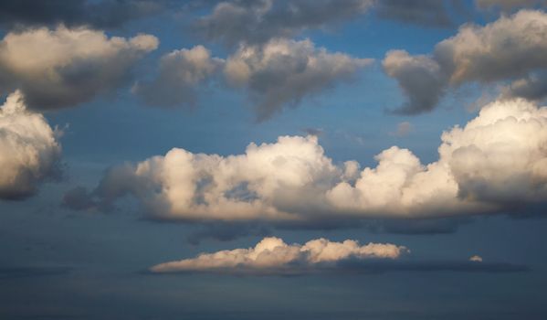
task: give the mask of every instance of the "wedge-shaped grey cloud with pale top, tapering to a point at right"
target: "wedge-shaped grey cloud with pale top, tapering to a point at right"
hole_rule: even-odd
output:
[[[316,48],[310,40],[274,39],[264,46],[240,46],[226,60],[224,73],[230,86],[247,89],[258,120],[264,120],[305,97],[352,80],[371,62]]]

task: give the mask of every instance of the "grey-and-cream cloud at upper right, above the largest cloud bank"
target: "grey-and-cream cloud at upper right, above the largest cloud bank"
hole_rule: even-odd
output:
[[[545,57],[547,14],[521,10],[484,27],[464,25],[456,36],[438,43],[431,55],[390,51],[383,65],[408,97],[400,112],[412,114],[432,110],[447,89],[469,82],[517,80],[507,95],[543,97],[547,91],[534,75],[547,68]]]

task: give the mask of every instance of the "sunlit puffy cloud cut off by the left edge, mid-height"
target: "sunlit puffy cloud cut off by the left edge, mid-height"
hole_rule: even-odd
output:
[[[21,93],[0,108],[0,199],[28,197],[59,174],[61,147],[46,119],[26,110]]]

